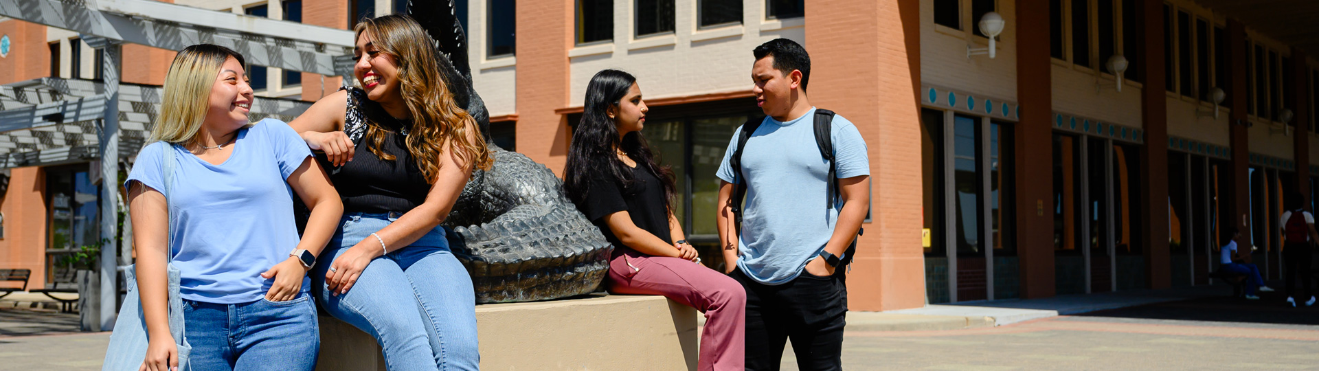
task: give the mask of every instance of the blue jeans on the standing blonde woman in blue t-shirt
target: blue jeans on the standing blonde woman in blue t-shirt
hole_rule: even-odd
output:
[[[311,371],[321,327],[311,296],[243,304],[183,300],[183,335],[193,343],[191,370]]]

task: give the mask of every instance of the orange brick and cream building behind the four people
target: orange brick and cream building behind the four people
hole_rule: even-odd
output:
[[[346,29],[396,1],[177,3]],[[1319,176],[1310,149],[1319,61],[1308,58],[1319,53],[1308,26],[1319,5],[803,3],[458,5],[492,135],[555,172],[591,75],[636,74],[652,107],[646,136],[679,176],[675,210],[707,253],[715,168],[733,129],[758,115],[751,50],[776,37],[802,42],[811,102],[856,123],[869,145],[872,218],[848,279],[853,310],[1208,284],[1228,226],[1260,248],[1268,277],[1281,276],[1275,215],[1289,191],[1312,199]],[[989,12],[1005,24],[995,57],[971,55],[989,44],[977,26]],[[0,84],[95,78],[94,53],[71,51],[75,34],[17,20],[0,21],[0,34],[13,42]],[[173,55],[124,51],[124,81],[144,84],[161,83]],[[265,82],[260,95],[315,100],[340,78],[269,69]],[[11,169],[4,265],[49,267],[53,199],[65,191],[51,174],[73,172],[77,184],[77,166],[86,168]]]

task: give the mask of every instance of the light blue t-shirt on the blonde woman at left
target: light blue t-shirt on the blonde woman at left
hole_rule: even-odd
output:
[[[170,252],[186,300],[240,304],[260,300],[273,279],[261,277],[298,244],[293,189],[285,181],[311,156],[298,133],[274,119],[239,131],[233,153],[219,165],[179,145],[153,143],[137,154],[124,186],[138,181],[165,193],[161,151],[174,151]],[[310,280],[302,280],[309,292]]]

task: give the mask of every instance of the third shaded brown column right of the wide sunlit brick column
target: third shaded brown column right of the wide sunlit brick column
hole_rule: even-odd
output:
[[[1246,231],[1250,230],[1250,140],[1249,140],[1249,127],[1246,125],[1246,91],[1250,88],[1245,83],[1245,74],[1250,71],[1245,70],[1246,54],[1250,53],[1245,45],[1245,25],[1235,18],[1228,18],[1228,58],[1231,58],[1229,71],[1232,71],[1232,86],[1228,94],[1228,100],[1232,102],[1232,112],[1228,116],[1228,127],[1231,132],[1229,144],[1232,145],[1232,172],[1229,172],[1231,190],[1229,195],[1233,202],[1229,202],[1228,215],[1232,215],[1232,223],[1241,230],[1242,236],[1248,236]],[[1237,222],[1240,220],[1240,222]],[[1241,246],[1250,246],[1249,239],[1237,240]]]

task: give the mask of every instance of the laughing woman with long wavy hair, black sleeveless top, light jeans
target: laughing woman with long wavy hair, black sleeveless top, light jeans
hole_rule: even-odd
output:
[[[326,153],[344,203],[327,259],[311,273],[317,300],[375,337],[389,370],[477,370],[472,280],[438,226],[472,170],[489,169],[489,153],[417,21],[365,18],[353,34],[361,87],[291,123]]]

